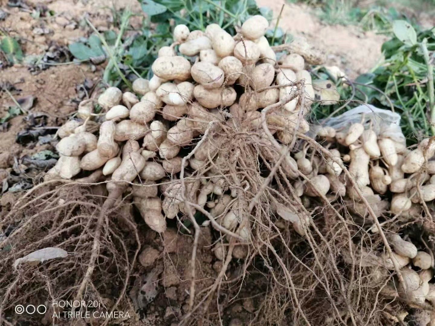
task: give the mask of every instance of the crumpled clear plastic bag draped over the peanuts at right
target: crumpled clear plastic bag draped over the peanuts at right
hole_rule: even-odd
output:
[[[312,126],[312,130],[316,133],[322,126],[331,126],[337,131],[346,133],[352,123],[361,122],[362,115],[364,115],[362,123],[366,129],[371,124],[371,129],[378,136],[405,143],[405,136],[400,127],[400,115],[390,110],[378,109],[370,104],[363,104],[339,116],[320,120],[319,124]]]

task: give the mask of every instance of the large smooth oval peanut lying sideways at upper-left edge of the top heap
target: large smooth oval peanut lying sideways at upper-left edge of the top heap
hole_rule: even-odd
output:
[[[190,62],[181,56],[157,58],[151,66],[153,73],[166,80],[187,80],[191,77]]]

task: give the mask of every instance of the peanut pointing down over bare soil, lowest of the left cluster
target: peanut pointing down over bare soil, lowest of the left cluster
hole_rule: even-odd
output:
[[[161,213],[162,203],[160,198],[135,197],[134,205],[151,230],[157,233],[163,233],[166,230],[166,220]]]

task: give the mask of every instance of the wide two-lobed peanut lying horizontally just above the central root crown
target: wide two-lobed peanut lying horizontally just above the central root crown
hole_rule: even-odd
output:
[[[207,90],[202,85],[194,88],[194,97],[202,106],[212,109],[218,106],[231,106],[237,97],[237,93],[232,87],[214,88]]]

